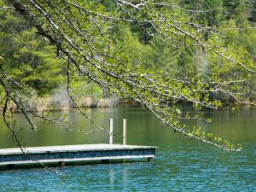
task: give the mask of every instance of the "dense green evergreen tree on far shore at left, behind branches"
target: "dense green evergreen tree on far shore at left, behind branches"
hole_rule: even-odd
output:
[[[44,95],[64,81],[64,63],[54,46],[40,37],[17,13],[1,12],[0,55],[11,78]]]

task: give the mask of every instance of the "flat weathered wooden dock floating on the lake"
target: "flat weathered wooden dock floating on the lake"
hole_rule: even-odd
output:
[[[156,148],[121,144],[66,145],[26,148],[26,154],[23,154],[20,148],[2,148],[0,149],[0,166],[11,168],[16,165],[31,165],[38,162],[64,165],[65,162],[95,160],[105,163],[110,162],[110,160],[138,158],[153,161]]]

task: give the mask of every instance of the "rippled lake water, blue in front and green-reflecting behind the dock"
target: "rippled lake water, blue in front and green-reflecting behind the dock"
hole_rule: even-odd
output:
[[[183,108],[190,111],[190,108]],[[256,109],[236,113],[206,111],[212,123],[194,122],[233,143],[243,143],[241,152],[224,152],[204,143],[174,134],[148,110],[137,107],[96,108],[88,110],[103,125],[114,119],[114,143],[121,143],[122,119],[127,119],[127,143],[155,145],[154,163],[137,162],[112,165],[66,166],[55,168],[58,177],[45,169],[34,168],[0,172],[0,191],[256,191]],[[17,125],[23,127],[26,146],[83,143],[108,143],[108,135],[70,133],[38,122],[38,131],[30,131],[19,113]],[[76,111],[69,119],[85,130],[91,126]],[[15,147],[9,131],[0,120],[0,148]]]

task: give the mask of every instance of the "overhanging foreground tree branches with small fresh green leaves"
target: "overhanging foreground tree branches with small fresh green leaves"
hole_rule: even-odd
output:
[[[168,15],[165,8],[170,6],[164,3],[157,6],[154,1],[137,4],[133,1],[116,0],[114,2],[117,9],[114,10],[107,10],[100,3],[86,3],[83,0],[76,3],[66,0],[55,2],[9,0],[9,2],[27,22],[38,30],[38,34],[47,38],[50,44],[55,44],[60,59],[67,61],[67,92],[78,107],[72,88],[75,77],[100,84],[102,88],[108,90],[109,94],[139,102],[154,113],[164,125],[182,134],[183,138],[196,139],[228,151],[241,150],[240,144],[234,146],[226,140],[214,137],[212,133],[201,131],[199,127],[189,127],[181,123],[181,119],[188,121],[205,119],[200,115],[184,114],[176,105],[178,102],[189,102],[196,109],[224,108],[221,101],[212,99],[219,95],[230,96],[234,101],[242,104],[254,105],[253,102],[247,102],[245,94],[236,92],[230,85],[253,77],[255,68],[238,61],[236,55],[226,55],[229,53],[228,50],[218,46],[218,42],[206,41],[206,33],[211,36],[211,39],[215,36],[223,37],[215,27],[191,22],[187,18],[180,17],[176,11],[173,11],[173,15]],[[180,15],[186,12],[183,9],[178,11]],[[153,38],[161,39],[163,44],[190,46],[201,49],[206,55],[218,55],[250,76],[244,79],[218,79],[218,76],[213,75],[206,81],[197,74],[194,79],[183,80],[160,70],[148,69],[142,63],[131,61],[123,53],[119,44],[109,37],[111,26],[116,22],[134,23],[143,27],[144,32]],[[144,23],[149,24],[150,27],[144,27]],[[3,67],[1,71],[4,74]],[[23,102],[27,98],[24,88],[26,85],[7,79],[1,79],[1,82],[5,88],[6,101],[14,101],[32,127],[35,127],[32,118],[36,117],[72,131],[69,125],[64,124],[60,119],[49,119],[25,108]],[[4,102],[4,108],[8,108],[6,103],[8,102]],[[79,111],[85,118],[90,119],[82,108],[79,108]],[[3,116],[6,116],[6,110]],[[107,128],[97,125],[94,119],[90,121],[108,132]],[[6,123],[9,125],[8,122]]]

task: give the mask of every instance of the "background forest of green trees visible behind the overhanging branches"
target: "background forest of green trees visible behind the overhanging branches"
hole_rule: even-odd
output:
[[[196,0],[196,1],[167,1],[173,6],[170,15],[179,9],[188,10],[179,14],[180,20],[189,18],[199,23],[219,29],[224,28],[218,44],[224,44],[232,51],[247,58],[249,66],[256,61],[256,1],[255,0]],[[115,9],[112,1],[101,1],[106,9]],[[2,1],[2,8],[8,7],[6,1]],[[44,98],[61,96],[67,83],[65,79],[65,63],[58,59],[58,50],[49,44],[44,37],[26,20],[20,17],[18,12],[11,9],[0,9],[0,55],[5,61],[0,60],[6,70],[12,73],[14,79],[25,83],[32,91],[44,100]],[[147,29],[147,30],[145,30]],[[229,29],[229,30],[228,30]],[[128,55],[131,61],[143,63],[150,69],[161,69],[177,79],[187,80],[196,76],[208,79],[212,73],[218,73],[224,79],[241,79],[243,73],[227,61],[220,60],[218,56],[209,57],[203,51],[195,47],[182,44],[168,46],[163,44],[160,38],[155,38],[149,32],[154,32],[150,26],[137,26],[132,23],[115,23],[108,29],[108,35],[114,42],[121,44],[122,53]],[[204,34],[207,41],[211,41],[209,34]],[[8,65],[6,64],[8,62]],[[54,65],[53,65],[54,63]],[[246,77],[245,77],[246,78]],[[75,87],[83,96],[90,96],[99,100],[103,94],[102,88],[90,81],[76,81]],[[254,82],[234,84],[236,90],[247,90],[251,101],[254,100]],[[1,88],[3,96],[3,88]],[[57,93],[57,94],[56,94]],[[226,102],[234,102],[229,96],[221,96]],[[53,100],[53,99],[51,99]],[[58,100],[58,98],[56,99]],[[55,103],[55,102],[53,102]]]

